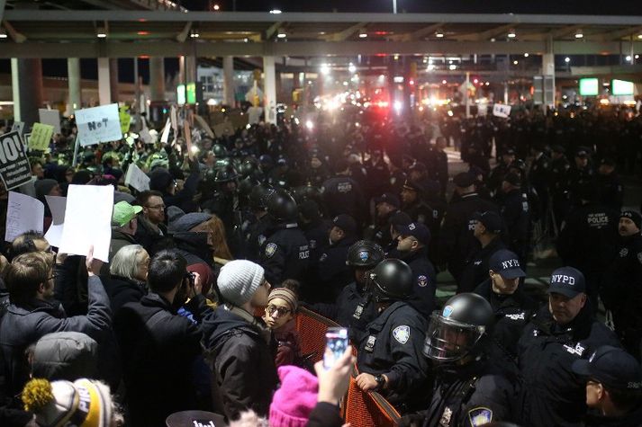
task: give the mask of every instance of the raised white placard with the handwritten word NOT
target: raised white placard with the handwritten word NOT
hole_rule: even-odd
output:
[[[76,123],[81,146],[118,141],[122,138],[117,103],[77,110]]]

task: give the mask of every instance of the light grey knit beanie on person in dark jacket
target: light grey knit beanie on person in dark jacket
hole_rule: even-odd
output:
[[[265,278],[263,267],[248,260],[234,260],[222,266],[216,284],[225,302],[240,307],[250,299]]]

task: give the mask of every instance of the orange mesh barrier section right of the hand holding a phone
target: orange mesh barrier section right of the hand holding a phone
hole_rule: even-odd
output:
[[[357,386],[357,368],[352,370],[348,395],[343,402],[346,423],[352,427],[397,427],[401,415],[384,396],[376,392],[366,393]]]

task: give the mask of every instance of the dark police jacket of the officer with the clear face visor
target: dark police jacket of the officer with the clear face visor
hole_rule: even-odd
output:
[[[478,427],[514,418],[515,382],[487,360],[436,374],[424,427]]]

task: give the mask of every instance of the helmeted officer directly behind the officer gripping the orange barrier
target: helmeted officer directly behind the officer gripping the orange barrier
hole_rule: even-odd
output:
[[[312,310],[349,328],[350,340],[359,342],[366,325],[377,316],[370,289],[370,271],[384,261],[381,246],[368,240],[359,240],[348,249],[346,264],[353,274],[353,281],[341,290],[334,304],[313,304]]]

